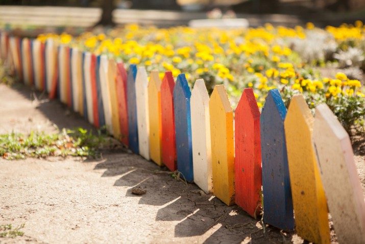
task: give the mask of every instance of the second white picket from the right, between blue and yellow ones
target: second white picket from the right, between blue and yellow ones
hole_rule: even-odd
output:
[[[190,107],[194,183],[209,193],[213,190],[209,95],[203,79],[194,84]]]

